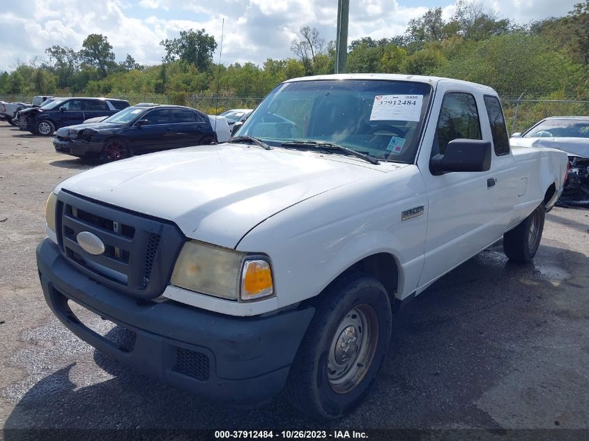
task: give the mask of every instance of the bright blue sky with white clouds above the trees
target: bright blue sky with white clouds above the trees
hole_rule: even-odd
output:
[[[500,17],[525,24],[560,17],[581,0],[485,0]],[[351,0],[349,42],[362,36],[383,38],[404,33],[407,22],[428,8],[441,7],[445,18],[454,3],[443,0]],[[117,61],[131,54],[138,63],[161,63],[160,41],[188,29],[205,29],[217,44],[222,63],[293,56],[291,41],[301,26],[316,27],[335,40],[337,0],[0,0],[0,71],[43,58],[45,48],[79,50],[90,33],[107,36]],[[219,59],[219,49],[215,62]]]

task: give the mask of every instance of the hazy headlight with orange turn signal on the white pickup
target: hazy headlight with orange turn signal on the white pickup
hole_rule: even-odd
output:
[[[260,256],[186,242],[171,284],[228,300],[254,300],[274,294],[270,263]]]

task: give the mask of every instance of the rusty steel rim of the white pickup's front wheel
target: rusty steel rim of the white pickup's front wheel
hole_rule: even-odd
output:
[[[337,394],[356,387],[370,369],[378,343],[378,317],[369,304],[353,307],[337,326],[329,346],[328,382]]]

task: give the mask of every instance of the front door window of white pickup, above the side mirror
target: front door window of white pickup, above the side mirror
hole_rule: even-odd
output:
[[[477,103],[470,93],[445,95],[431,155],[445,153],[452,139],[481,139]]]

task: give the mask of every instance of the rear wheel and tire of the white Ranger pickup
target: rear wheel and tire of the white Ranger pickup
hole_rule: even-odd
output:
[[[531,261],[542,239],[546,208],[541,203],[521,224],[503,235],[503,251],[510,261],[526,263]]]

